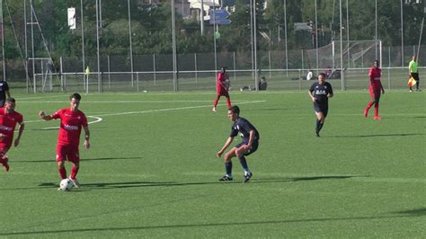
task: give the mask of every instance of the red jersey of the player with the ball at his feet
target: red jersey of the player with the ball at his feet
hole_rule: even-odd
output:
[[[88,125],[84,112],[62,109],[50,117],[55,120],[60,119],[58,146],[78,146],[80,144],[82,127]]]

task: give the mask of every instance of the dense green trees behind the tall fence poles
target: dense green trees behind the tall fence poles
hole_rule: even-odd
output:
[[[172,52],[171,4],[139,4],[130,2],[133,54],[159,54]],[[217,39],[218,51],[244,52],[251,49],[250,0],[236,0],[235,12],[229,25],[219,25],[221,37]],[[339,39],[339,0],[316,0],[317,26],[315,31],[315,0],[257,0],[256,37],[258,48],[284,48],[284,2],[287,3],[288,49],[312,48],[312,34],[320,36],[320,45]],[[345,0],[342,0],[343,40],[373,40],[375,38],[375,1],[349,1],[349,24]],[[84,47],[87,56],[96,54],[96,2],[83,0]],[[385,46],[401,44],[400,0],[377,0],[378,39]],[[81,57],[82,31],[80,0],[34,0],[34,12],[38,25],[27,25],[28,51],[31,52],[31,27],[34,29],[36,55],[46,56],[49,49],[52,57]],[[265,8],[266,4],[266,8]],[[4,1],[4,36],[6,58],[20,58],[24,49],[23,0]],[[67,7],[76,10],[77,27],[67,26]],[[102,1],[100,46],[102,56],[129,55],[129,14],[127,0]],[[26,2],[27,22],[31,22],[31,8]],[[404,4],[404,44],[418,43],[423,17],[422,4]],[[36,22],[35,19],[32,22]],[[297,31],[295,22],[312,22],[314,30]],[[212,52],[214,32],[206,22],[206,32],[200,34],[200,23],[183,20],[176,15],[177,49],[181,54]],[[16,38],[13,34],[16,32]],[[42,40],[43,33],[45,41]],[[17,45],[17,41],[20,47]],[[46,45],[44,44],[46,43]],[[22,53],[24,55],[24,53]]]

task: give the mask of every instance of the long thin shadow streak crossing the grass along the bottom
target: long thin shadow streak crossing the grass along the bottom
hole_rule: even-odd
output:
[[[105,232],[105,231],[146,231],[158,229],[176,229],[176,228],[222,228],[223,226],[282,226],[300,223],[331,223],[331,222],[345,222],[345,221],[377,221],[377,219],[392,219],[392,218],[410,218],[410,217],[423,217],[426,216],[426,208],[416,208],[411,210],[404,210],[394,212],[392,215],[377,215],[377,216],[356,216],[356,217],[314,217],[314,218],[300,218],[300,219],[281,219],[281,220],[253,220],[244,222],[212,222],[212,223],[193,223],[193,224],[170,224],[170,225],[153,225],[153,226],[111,226],[111,227],[97,227],[97,228],[73,228],[72,230],[39,230],[39,231],[18,231],[15,232],[0,232],[0,236],[13,236],[13,235],[60,235],[70,233],[83,235],[88,232]],[[76,236],[76,235],[75,235]]]

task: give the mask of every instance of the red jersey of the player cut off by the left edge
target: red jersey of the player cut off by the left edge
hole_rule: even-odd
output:
[[[0,108],[0,133],[6,136],[0,138],[0,145],[12,146],[14,128],[22,122],[22,114],[16,111],[8,114],[4,108]]]

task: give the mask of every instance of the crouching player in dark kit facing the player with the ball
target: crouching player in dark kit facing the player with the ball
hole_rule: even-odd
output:
[[[253,173],[251,173],[248,168],[245,156],[251,155],[257,150],[260,138],[259,132],[248,120],[240,117],[240,109],[238,106],[232,106],[227,111],[227,116],[229,117],[229,120],[233,121],[234,123],[231,128],[231,134],[227,138],[226,143],[222,149],[217,152],[217,157],[220,157],[224,153],[226,148],[231,145],[234,137],[236,137],[238,133],[243,138],[243,141],[231,148],[231,150],[226,153],[224,157],[226,174],[221,179],[219,179],[219,181],[233,180],[231,159],[236,156],[240,160],[241,166],[244,168],[244,182],[247,182],[252,178]]]

